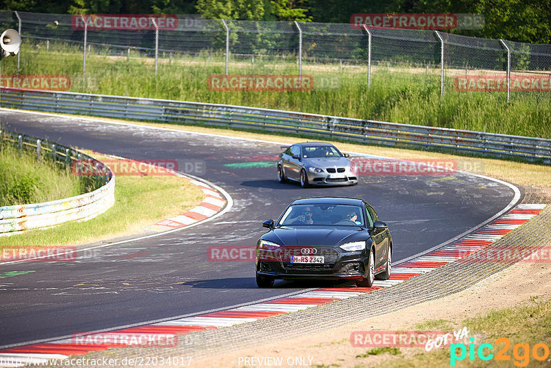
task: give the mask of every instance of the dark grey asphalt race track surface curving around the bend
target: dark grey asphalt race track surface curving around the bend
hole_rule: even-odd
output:
[[[206,170],[189,174],[233,198],[229,212],[180,232],[94,249],[74,262],[0,265],[1,272],[34,271],[0,280],[3,347],[322,286],[277,281],[273,289],[258,289],[252,262],[207,258],[211,245],[256,244],[262,221],[277,218],[295,198],[365,198],[388,223],[398,263],[486,221],[514,196],[506,185],[467,174],[361,176],[354,187],[302,189],[276,181],[278,144],[7,110],[0,114],[8,130],[63,145],[136,160],[178,160],[180,172],[186,171],[185,163],[204,163]]]

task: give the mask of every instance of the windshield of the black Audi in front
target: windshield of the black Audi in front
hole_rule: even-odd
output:
[[[355,205],[292,205],[281,217],[279,226],[338,225],[364,226],[362,207]]]

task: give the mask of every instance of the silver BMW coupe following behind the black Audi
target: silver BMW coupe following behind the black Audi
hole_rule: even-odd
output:
[[[278,181],[309,185],[355,185],[357,168],[330,143],[297,143],[285,147],[278,158]]]

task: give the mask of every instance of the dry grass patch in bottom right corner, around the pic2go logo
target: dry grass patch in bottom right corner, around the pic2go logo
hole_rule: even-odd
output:
[[[457,347],[455,354],[450,351],[449,347],[433,349],[428,352],[423,349],[404,348],[404,350],[410,349],[411,351],[399,357],[388,356],[384,362],[378,362],[375,366],[396,368],[549,367],[551,361],[549,353],[551,347],[551,335],[549,334],[551,300],[539,300],[537,296],[534,296],[528,303],[466,318],[457,326],[460,326],[459,328],[467,327],[470,331],[469,336],[474,338],[474,349],[470,347],[470,340],[465,341],[466,356],[464,358],[459,358],[461,357],[460,347]],[[482,351],[483,356],[486,357],[492,354],[487,361],[482,360],[478,352],[483,343],[491,345],[491,347],[486,345]],[[535,350],[534,347],[536,347]],[[472,357],[470,356],[471,350],[474,351]],[[368,356],[368,354],[363,355]],[[457,358],[453,358],[455,356]]]

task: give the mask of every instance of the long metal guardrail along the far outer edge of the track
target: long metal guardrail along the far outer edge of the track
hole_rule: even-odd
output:
[[[201,123],[551,163],[551,139],[349,119],[213,103],[2,88],[7,108],[165,123]]]

